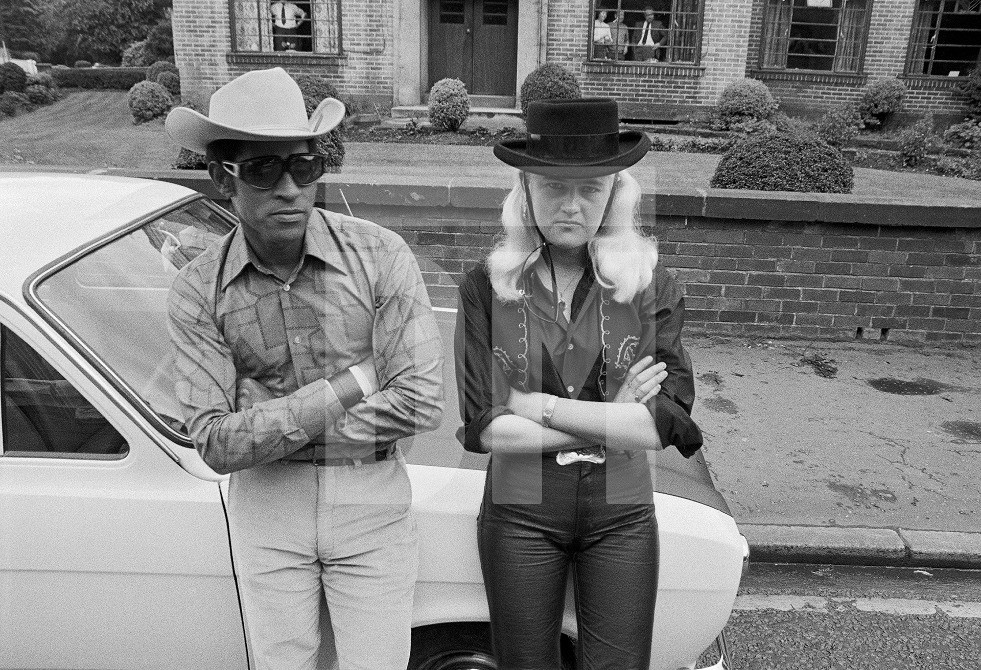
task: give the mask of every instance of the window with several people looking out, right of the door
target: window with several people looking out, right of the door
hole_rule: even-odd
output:
[[[594,61],[697,65],[703,0],[593,0]]]

